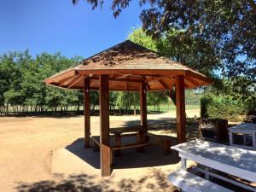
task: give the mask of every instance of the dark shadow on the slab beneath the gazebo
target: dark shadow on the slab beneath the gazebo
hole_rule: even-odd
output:
[[[172,143],[176,143],[176,137],[170,137]],[[136,142],[136,137],[124,137],[122,143]],[[84,138],[79,138],[66,149],[84,160],[90,166],[100,169],[100,153],[93,151],[92,148],[84,148]],[[175,151],[171,154],[163,154],[163,150],[158,145],[149,145],[145,147],[143,153],[137,153],[136,148],[122,150],[122,155],[116,157],[113,154],[113,169],[129,169],[138,167],[166,166],[177,164],[179,158]]]

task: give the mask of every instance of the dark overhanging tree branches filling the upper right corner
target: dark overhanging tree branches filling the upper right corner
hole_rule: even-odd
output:
[[[78,3],[79,0],[73,0]],[[93,9],[103,0],[87,0]],[[130,0],[112,1],[114,17],[129,7]],[[139,0],[144,9],[140,15],[143,31],[153,38],[177,30],[178,38],[202,41],[201,50],[210,46],[221,59],[219,66],[225,76],[246,75],[256,79],[256,5],[246,1],[178,1]],[[194,41],[186,42],[189,47]],[[207,44],[206,44],[207,43]],[[205,45],[204,45],[205,44]],[[198,46],[196,46],[198,48]],[[212,62],[214,58],[212,58]],[[187,64],[187,63],[186,63]],[[201,63],[201,67],[204,67]]]

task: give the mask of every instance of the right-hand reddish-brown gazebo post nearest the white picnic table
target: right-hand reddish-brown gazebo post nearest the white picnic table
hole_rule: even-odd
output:
[[[177,143],[186,142],[185,86],[184,76],[175,78],[176,112],[177,112]]]

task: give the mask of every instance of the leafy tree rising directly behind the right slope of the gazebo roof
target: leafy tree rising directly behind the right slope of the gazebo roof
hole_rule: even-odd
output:
[[[220,65],[218,55],[215,55],[214,50],[207,42],[188,37],[181,30],[172,29],[170,32],[166,32],[165,36],[156,40],[143,32],[142,28],[137,28],[131,31],[128,38],[137,44],[158,52],[160,55],[186,63],[189,67],[193,67],[201,73],[206,73],[208,76],[213,76],[213,71],[218,69]],[[172,102],[176,103],[175,90],[166,91],[164,94],[170,96]],[[155,96],[155,102],[161,101],[162,93],[155,94]]]

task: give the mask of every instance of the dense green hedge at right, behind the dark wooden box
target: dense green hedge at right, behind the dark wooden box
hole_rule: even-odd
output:
[[[244,119],[255,105],[255,100],[242,101],[231,96],[201,97],[201,118],[220,118],[231,121]]]

